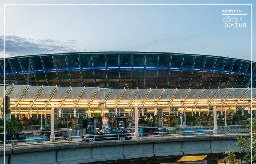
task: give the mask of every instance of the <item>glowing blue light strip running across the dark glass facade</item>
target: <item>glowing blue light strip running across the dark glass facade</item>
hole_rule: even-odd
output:
[[[82,70],[89,70],[89,69],[93,69],[93,67],[83,67]],[[99,70],[106,70],[106,67],[95,67],[94,69],[99,69]],[[157,67],[139,67],[139,66],[134,66],[134,67],[125,67],[125,66],[121,66],[121,67],[108,67],[107,69],[157,69]],[[158,69],[169,69],[168,67],[158,67]],[[68,70],[67,68],[62,68],[62,69],[58,69],[59,71],[63,71],[63,70]],[[71,70],[80,70],[80,68],[71,68]],[[177,68],[177,67],[170,67],[170,70],[192,70],[191,68]],[[44,70],[35,70],[35,72],[41,72],[41,71],[44,71]],[[47,69],[46,71],[55,71],[55,69]],[[194,68],[193,71],[212,71],[212,70],[209,70],[209,69],[196,69]],[[221,72],[220,70],[213,70],[214,72]],[[32,71],[24,71],[24,73],[31,73],[33,72]],[[22,71],[18,71],[18,72],[15,72],[16,74],[17,73],[23,73]],[[229,71],[223,71],[223,73],[229,73]],[[237,73],[237,72],[233,72],[231,71],[231,73],[233,74],[242,74],[242,75],[250,75],[250,74],[247,74],[247,73]],[[10,73],[6,73],[7,75],[8,74],[14,74],[14,72],[10,72]],[[4,74],[1,74],[1,75],[4,75]],[[253,74],[253,76],[256,76],[256,74]]]

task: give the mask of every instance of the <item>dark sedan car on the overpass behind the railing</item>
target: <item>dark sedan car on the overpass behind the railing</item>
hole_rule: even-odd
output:
[[[85,134],[82,137],[82,141],[93,142],[100,140],[129,140],[132,139],[131,132],[121,128],[102,128],[96,133]],[[95,136],[95,137],[94,137]]]

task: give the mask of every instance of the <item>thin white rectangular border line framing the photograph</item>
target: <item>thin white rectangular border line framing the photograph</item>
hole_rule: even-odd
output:
[[[6,79],[6,75],[5,75],[5,58],[6,58],[6,54],[5,54],[5,7],[6,6],[251,6],[251,13],[250,13],[250,17],[251,17],[251,46],[250,46],[250,52],[251,52],[251,105],[250,105],[250,112],[251,112],[251,125],[252,125],[252,4],[4,4],[4,88],[5,88],[5,79]],[[4,95],[6,94],[6,91],[4,89]],[[6,130],[6,118],[5,118],[5,102],[3,103],[4,106],[4,134],[5,134],[5,130]],[[6,136],[4,135],[4,164],[5,164],[5,150],[6,150]],[[251,126],[251,164],[252,164],[252,126]]]

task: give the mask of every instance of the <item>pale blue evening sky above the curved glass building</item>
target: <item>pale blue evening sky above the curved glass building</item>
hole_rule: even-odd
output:
[[[252,2],[2,0],[0,12],[4,12],[4,3]],[[222,15],[225,9],[239,9],[247,14],[230,16],[237,17],[238,23],[246,23],[246,27],[225,28],[223,18],[227,16]],[[3,56],[2,14],[0,20],[0,55]],[[5,28],[6,57],[62,52],[152,51],[250,60],[250,6],[6,6]],[[256,58],[254,52],[253,59]]]

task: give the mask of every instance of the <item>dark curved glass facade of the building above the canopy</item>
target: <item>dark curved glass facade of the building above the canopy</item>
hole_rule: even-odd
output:
[[[251,63],[217,56],[157,52],[80,52],[0,60],[0,83],[104,88],[246,88]],[[256,63],[252,63],[256,87]]]

